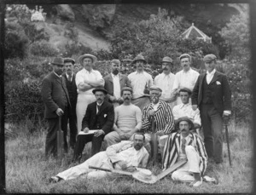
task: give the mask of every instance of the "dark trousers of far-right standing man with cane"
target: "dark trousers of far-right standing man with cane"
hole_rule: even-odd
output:
[[[201,105],[201,123],[205,136],[205,146],[208,158],[216,163],[223,162],[223,118],[213,105]]]

